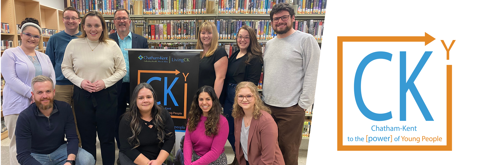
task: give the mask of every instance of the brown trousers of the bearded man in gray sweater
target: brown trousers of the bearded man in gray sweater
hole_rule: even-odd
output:
[[[294,105],[288,108],[274,107],[265,104],[271,111],[279,131],[279,148],[286,165],[298,165],[298,152],[302,143],[305,110]]]

